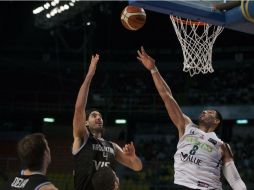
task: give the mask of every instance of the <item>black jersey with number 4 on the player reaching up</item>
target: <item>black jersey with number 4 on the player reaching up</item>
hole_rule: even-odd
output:
[[[75,190],[93,190],[93,174],[101,167],[111,167],[115,170],[115,165],[113,144],[89,135],[87,142],[74,154]]]

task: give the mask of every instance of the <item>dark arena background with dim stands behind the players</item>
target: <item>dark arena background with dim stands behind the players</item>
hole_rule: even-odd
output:
[[[144,163],[138,173],[119,167],[121,189],[174,189],[176,130],[150,73],[136,59],[143,45],[193,120],[204,107],[222,112],[218,134],[231,144],[243,180],[254,189],[253,35],[225,29],[214,46],[215,72],[191,78],[182,72],[181,47],[167,15],[146,11],[145,26],[133,32],[120,22],[126,1],[79,2],[85,8],[54,22],[32,14],[43,3],[0,2],[0,187],[19,170],[17,140],[43,132],[52,152],[50,179],[61,190],[73,189],[74,103],[90,56],[97,52],[88,107],[102,110],[105,138],[120,145],[133,140]],[[45,117],[55,122],[43,122]],[[119,118],[127,123],[115,124]],[[248,123],[237,124],[243,119]]]

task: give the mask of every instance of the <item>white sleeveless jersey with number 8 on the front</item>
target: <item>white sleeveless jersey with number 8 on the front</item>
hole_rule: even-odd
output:
[[[188,124],[174,155],[174,183],[193,189],[222,190],[222,144],[214,132],[206,133]]]

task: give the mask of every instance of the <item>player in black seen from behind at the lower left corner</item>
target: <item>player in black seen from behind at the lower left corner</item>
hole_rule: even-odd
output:
[[[17,152],[22,172],[11,179],[4,190],[58,190],[46,178],[51,155],[43,134],[25,136],[19,141]]]

